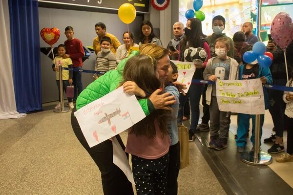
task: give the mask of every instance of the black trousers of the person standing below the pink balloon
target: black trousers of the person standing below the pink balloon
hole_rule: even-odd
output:
[[[285,86],[286,79],[273,80],[274,85]],[[283,137],[283,131],[285,129],[285,108],[286,104],[283,101],[284,91],[269,89],[270,98],[270,113],[272,115],[273,126],[276,131],[276,136]]]

